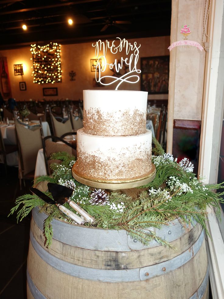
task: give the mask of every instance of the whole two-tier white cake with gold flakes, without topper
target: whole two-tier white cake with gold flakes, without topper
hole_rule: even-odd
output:
[[[147,92],[86,90],[83,104],[75,173],[102,181],[148,176],[152,132],[146,130]]]

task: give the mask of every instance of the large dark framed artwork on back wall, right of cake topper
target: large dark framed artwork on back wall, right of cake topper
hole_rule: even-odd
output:
[[[141,90],[168,94],[170,56],[141,58]]]

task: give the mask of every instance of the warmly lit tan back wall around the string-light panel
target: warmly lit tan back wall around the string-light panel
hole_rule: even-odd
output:
[[[169,55],[167,49],[170,45],[170,37],[150,37],[150,38],[139,38],[135,40],[128,40],[133,43],[141,44],[139,49],[139,60],[138,67],[140,68],[140,58],[150,56],[163,56]],[[117,56],[107,52],[108,62],[114,62],[114,59],[119,59],[120,56],[125,54],[119,53]],[[52,98],[69,98],[72,100],[82,99],[82,90],[84,89],[115,89],[116,85],[110,85],[105,87],[93,87],[93,79],[95,73],[90,71],[90,59],[95,58],[95,48],[92,47],[92,43],[82,44],[68,44],[61,45],[61,69],[62,83],[56,84],[34,84],[33,77],[31,76],[33,69],[32,67],[32,54],[30,47],[20,48],[15,50],[4,50],[0,51],[0,57],[7,57],[9,78],[12,89],[12,97],[19,100],[42,99],[43,98],[43,87],[58,87],[58,96],[46,97],[46,99]],[[23,76],[14,76],[14,64],[23,63],[25,65]],[[75,81],[70,81],[69,72],[73,70],[76,73]],[[112,72],[108,69],[105,75],[112,75]],[[26,91],[19,90],[19,82],[26,82]],[[140,90],[140,80],[136,84],[121,84],[119,89],[126,90]],[[164,95],[150,95],[151,99],[164,99],[168,98],[167,94]]]

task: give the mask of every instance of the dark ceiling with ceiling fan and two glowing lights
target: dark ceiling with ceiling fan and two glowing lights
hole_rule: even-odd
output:
[[[171,0],[2,0],[0,19],[1,49],[50,41],[166,36],[170,35]]]

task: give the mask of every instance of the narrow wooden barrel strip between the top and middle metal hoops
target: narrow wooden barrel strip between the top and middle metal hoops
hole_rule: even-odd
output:
[[[45,237],[43,231],[37,226],[33,218],[31,220],[31,232],[34,238],[47,252],[66,262],[85,267],[89,267],[91,263],[92,268],[118,270],[145,267],[179,255],[195,243],[201,233],[201,226],[197,224],[192,227],[190,231],[186,230],[185,234],[179,239],[171,242],[177,250],[156,246],[143,250],[124,252],[89,250],[62,243],[54,238],[52,239],[51,247],[46,248],[44,246]]]

